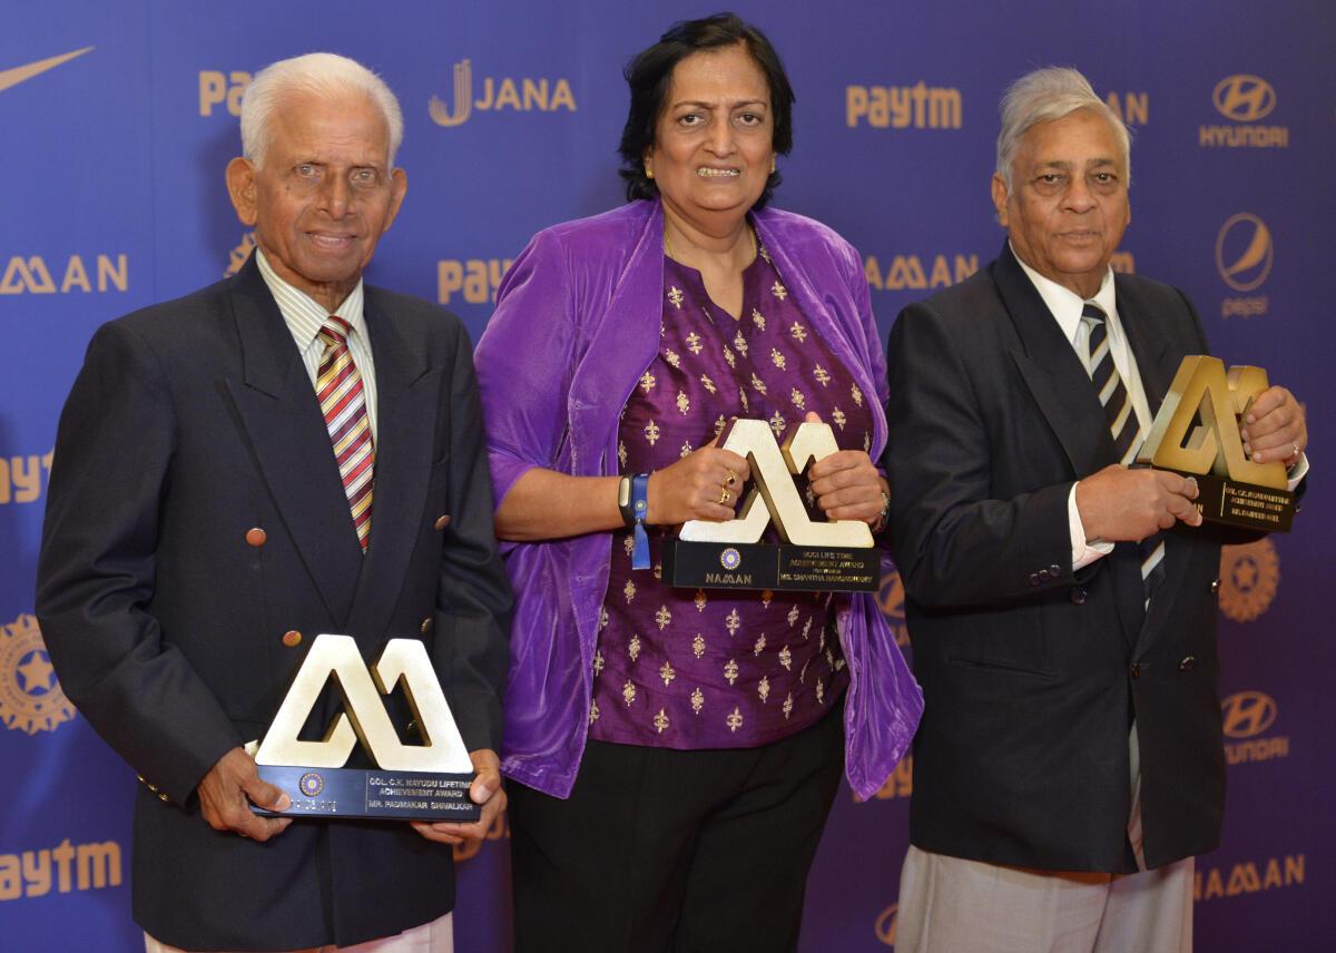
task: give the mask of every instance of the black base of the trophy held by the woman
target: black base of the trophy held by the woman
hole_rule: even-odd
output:
[[[876,548],[668,540],[663,577],[669,585],[692,589],[876,592],[882,581],[882,552]]]

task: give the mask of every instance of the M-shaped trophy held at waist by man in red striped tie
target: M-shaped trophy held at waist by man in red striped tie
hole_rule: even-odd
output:
[[[343,711],[323,739],[299,740],[330,676],[343,696]],[[403,744],[381,703],[381,695],[401,682],[424,744]],[[374,769],[343,767],[358,742]],[[481,805],[469,799],[473,762],[426,646],[415,639],[390,639],[369,672],[350,636],[317,636],[254,757],[259,777],[293,799],[286,811],[253,806],[257,814],[409,821],[481,815]]]

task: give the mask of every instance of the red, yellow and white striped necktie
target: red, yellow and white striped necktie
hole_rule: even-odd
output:
[[[347,334],[353,330],[343,318],[331,314],[321,327],[321,369],[315,378],[315,396],[325,414],[325,425],[334,445],[334,458],[343,479],[343,492],[353,513],[357,540],[366,552],[371,532],[371,495],[375,484],[375,446],[371,421],[366,413],[362,373],[353,364]]]

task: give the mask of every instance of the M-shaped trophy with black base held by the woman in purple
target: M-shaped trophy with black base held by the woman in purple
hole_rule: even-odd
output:
[[[719,446],[747,457],[754,487],[737,517],[724,523],[688,520],[664,545],[669,585],[704,589],[802,589],[875,592],[882,555],[859,520],[814,523],[794,485],[808,462],[839,452],[828,424],[804,422],[784,445],[763,420],[735,420]],[[771,520],[782,545],[762,544]]]

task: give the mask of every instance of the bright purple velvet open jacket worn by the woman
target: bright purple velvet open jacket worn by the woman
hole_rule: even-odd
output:
[[[784,285],[874,404],[886,445],[886,364],[858,253],[826,226],[767,209],[752,222]],[[500,504],[532,466],[617,472],[617,416],[659,348],[663,209],[632,202],[538,233],[516,258],[474,352]],[[608,533],[506,545],[516,591],[502,771],[556,797],[588,736]],[[872,595],[838,616],[850,667],[850,785],[870,798],[908,747],[923,698]]]

